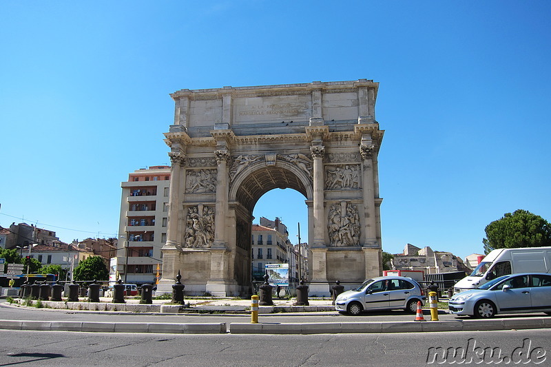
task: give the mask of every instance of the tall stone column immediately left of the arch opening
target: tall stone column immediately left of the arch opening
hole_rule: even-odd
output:
[[[226,213],[228,211],[228,168],[229,151],[214,151],[218,169],[216,172],[216,209],[214,213],[214,247],[225,248]]]

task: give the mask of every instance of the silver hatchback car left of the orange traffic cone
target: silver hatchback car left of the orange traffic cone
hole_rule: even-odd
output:
[[[337,296],[335,309],[360,315],[362,311],[403,309],[417,311],[417,302],[426,300],[419,283],[409,277],[387,276],[366,280],[357,289]]]

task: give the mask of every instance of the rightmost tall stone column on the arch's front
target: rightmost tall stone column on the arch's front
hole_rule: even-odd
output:
[[[364,139],[362,139],[364,140]],[[375,181],[373,180],[373,144],[360,145],[360,154],[364,160],[363,199],[364,199],[364,245],[363,247],[380,247],[377,242],[377,224],[375,221]]]

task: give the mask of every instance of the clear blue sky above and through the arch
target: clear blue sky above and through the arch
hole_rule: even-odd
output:
[[[121,182],[169,163],[176,90],[367,78],[386,131],[383,249],[481,253],[503,213],[551,220],[550,14],[549,1],[2,1],[0,224],[116,235]],[[303,200],[270,191],[254,215],[296,242]]]

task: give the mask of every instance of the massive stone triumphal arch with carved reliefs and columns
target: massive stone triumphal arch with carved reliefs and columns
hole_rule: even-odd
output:
[[[275,188],[304,195],[310,292],[381,272],[378,83],[179,90],[165,134],[171,176],[159,291],[251,292],[251,223]]]

